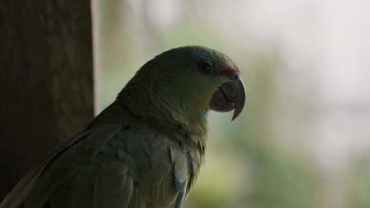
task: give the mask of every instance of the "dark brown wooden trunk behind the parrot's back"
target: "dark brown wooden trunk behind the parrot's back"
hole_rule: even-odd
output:
[[[93,118],[90,0],[0,0],[0,201]]]

